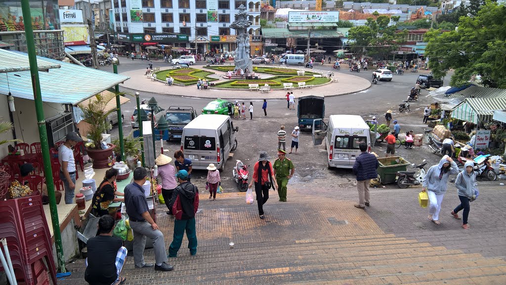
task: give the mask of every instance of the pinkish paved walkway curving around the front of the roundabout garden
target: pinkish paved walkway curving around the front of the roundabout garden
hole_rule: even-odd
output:
[[[208,69],[204,69],[208,70]],[[151,81],[144,74],[146,69],[132,70],[121,73],[121,75],[129,76],[130,79],[120,84],[121,87],[135,91],[144,91],[163,95],[198,97],[198,98],[223,98],[223,99],[284,99],[284,90],[273,90],[269,93],[261,93],[260,91],[243,90],[198,90],[196,85],[191,86],[167,86],[164,83]],[[217,73],[220,75],[220,73]],[[311,89],[291,90],[296,97],[316,95],[316,96],[336,96],[359,92],[371,86],[368,80],[363,78],[347,75],[343,73],[334,73],[338,78],[337,83],[329,83]]]

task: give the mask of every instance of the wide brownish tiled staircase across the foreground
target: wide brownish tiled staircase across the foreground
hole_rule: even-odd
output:
[[[178,258],[169,260],[173,272],[134,269],[128,258],[126,284],[506,284],[500,257],[386,234],[352,202],[299,196],[282,203],[270,193],[265,220],[256,204],[244,203],[244,193],[216,201],[200,194],[197,256],[190,257],[183,240]],[[168,249],[173,220],[159,209]],[[154,259],[152,250],[145,258]],[[81,263],[71,267],[83,270]]]

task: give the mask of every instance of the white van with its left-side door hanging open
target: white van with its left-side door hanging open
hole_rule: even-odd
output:
[[[321,145],[325,140],[328,168],[353,168],[360,155],[360,142],[366,142],[371,150],[369,126],[356,115],[331,115],[328,125],[322,119],[313,122],[313,143]]]

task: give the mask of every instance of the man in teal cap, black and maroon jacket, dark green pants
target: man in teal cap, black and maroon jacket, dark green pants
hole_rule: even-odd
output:
[[[197,233],[195,229],[195,213],[198,209],[198,189],[188,182],[188,172],[186,170],[179,170],[176,177],[179,185],[174,189],[169,204],[176,220],[174,221],[174,239],[168,248],[168,257],[178,256],[185,230],[190,254],[196,255]]]

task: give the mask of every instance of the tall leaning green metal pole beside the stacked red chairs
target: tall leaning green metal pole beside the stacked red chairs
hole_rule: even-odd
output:
[[[49,209],[51,213],[51,222],[53,223],[53,234],[55,238],[55,247],[56,247],[56,259],[58,261],[58,270],[60,272],[66,272],[67,270],[65,269],[65,259],[63,256],[62,237],[60,233],[60,222],[58,221],[58,209],[56,208],[53,170],[51,169],[51,158],[49,156],[49,143],[48,143],[48,134],[46,132],[46,120],[44,117],[42,98],[40,96],[40,81],[38,78],[37,54],[35,52],[35,42],[33,40],[33,28],[31,24],[31,12],[29,0],[21,0],[21,9],[23,11],[23,22],[25,25],[26,47],[28,50],[28,60],[30,62],[33,99],[35,101],[35,113],[37,116],[40,147],[42,149],[44,175],[46,176],[46,185],[48,187]]]

